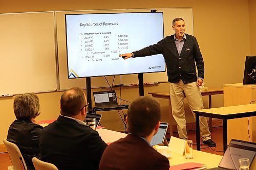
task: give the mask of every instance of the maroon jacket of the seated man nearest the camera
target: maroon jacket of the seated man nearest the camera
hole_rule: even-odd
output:
[[[100,170],[168,170],[168,159],[144,139],[129,134],[111,143],[104,151]]]

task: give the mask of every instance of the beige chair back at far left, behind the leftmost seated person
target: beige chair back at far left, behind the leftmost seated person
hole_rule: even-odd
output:
[[[9,156],[14,170],[27,170],[26,163],[15,143],[9,142],[4,139],[4,144],[8,150]]]

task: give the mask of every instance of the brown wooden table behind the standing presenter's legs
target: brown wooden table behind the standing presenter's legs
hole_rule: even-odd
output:
[[[211,108],[211,95],[216,94],[223,94],[223,88],[222,87],[208,87],[208,90],[200,91],[202,96],[208,95],[208,104],[209,108]],[[171,109],[171,101],[170,101],[170,93],[169,91],[156,91],[156,92],[148,92],[148,94],[151,94],[154,98],[160,98],[160,99],[168,99],[169,104],[169,131],[170,135],[173,135],[173,128],[172,128],[172,120],[173,120],[173,114]],[[212,119],[209,119],[209,130],[212,129]]]

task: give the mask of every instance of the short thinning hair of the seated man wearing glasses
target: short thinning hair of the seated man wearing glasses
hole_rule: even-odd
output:
[[[73,87],[65,91],[60,99],[60,113],[64,116],[77,115],[80,110],[86,105],[86,98],[83,90],[78,87]]]

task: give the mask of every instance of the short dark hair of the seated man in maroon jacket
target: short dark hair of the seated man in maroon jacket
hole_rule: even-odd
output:
[[[150,135],[160,119],[160,104],[152,96],[135,99],[127,111],[129,132],[136,136]]]

